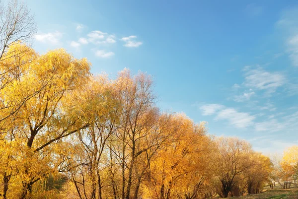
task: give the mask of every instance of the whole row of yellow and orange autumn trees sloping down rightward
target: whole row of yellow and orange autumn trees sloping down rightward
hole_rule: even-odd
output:
[[[62,49],[38,55],[16,43],[4,53],[4,199],[225,198],[267,183],[268,157],[161,112],[146,73],[124,69],[112,80],[89,68]]]

